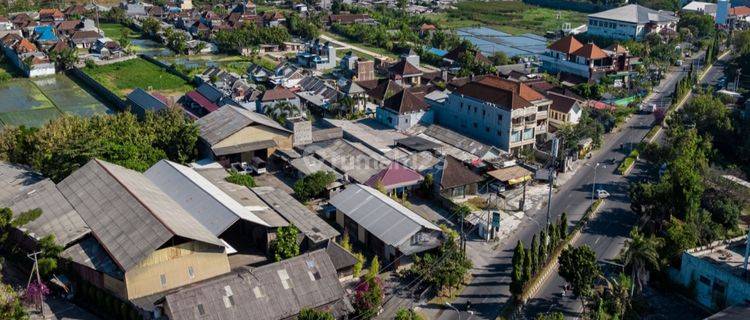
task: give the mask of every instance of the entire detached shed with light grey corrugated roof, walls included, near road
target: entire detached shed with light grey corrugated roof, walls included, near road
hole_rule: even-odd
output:
[[[399,270],[414,254],[440,246],[442,231],[387,195],[362,184],[351,184],[331,197],[336,223],[349,238]]]

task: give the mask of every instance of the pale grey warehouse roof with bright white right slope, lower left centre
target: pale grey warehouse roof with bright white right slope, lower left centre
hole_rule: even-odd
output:
[[[161,160],[146,170],[145,175],[215,236],[240,219],[268,226],[250,209],[191,168]]]

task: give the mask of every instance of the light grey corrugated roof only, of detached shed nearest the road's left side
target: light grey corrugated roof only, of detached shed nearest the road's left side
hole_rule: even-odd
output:
[[[414,234],[440,228],[373,188],[351,184],[331,198],[339,211],[384,243],[398,247]]]

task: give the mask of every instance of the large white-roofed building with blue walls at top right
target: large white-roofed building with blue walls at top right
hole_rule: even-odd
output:
[[[612,39],[643,40],[650,33],[676,31],[679,18],[672,12],[628,4],[590,14],[587,33]]]

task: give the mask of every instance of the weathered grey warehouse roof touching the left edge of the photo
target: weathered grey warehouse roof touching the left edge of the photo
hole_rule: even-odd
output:
[[[0,207],[10,208],[16,216],[25,211],[41,209],[42,215],[22,229],[37,239],[54,235],[57,244],[63,246],[90,231],[52,180],[25,167],[2,161]]]

